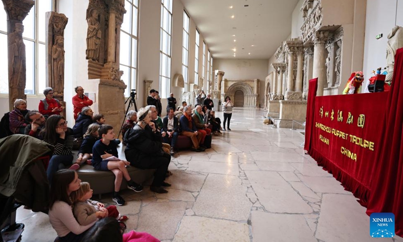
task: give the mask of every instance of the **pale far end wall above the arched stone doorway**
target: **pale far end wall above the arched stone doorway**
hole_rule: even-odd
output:
[[[259,103],[264,105],[264,85],[268,59],[214,59],[213,69],[225,72],[224,79],[259,79]]]

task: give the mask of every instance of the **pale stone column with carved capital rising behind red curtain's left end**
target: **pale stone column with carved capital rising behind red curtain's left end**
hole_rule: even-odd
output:
[[[316,96],[323,96],[323,88],[326,83],[326,49],[325,43],[329,36],[329,31],[318,30],[314,36],[313,51],[313,78],[318,78],[318,89]]]

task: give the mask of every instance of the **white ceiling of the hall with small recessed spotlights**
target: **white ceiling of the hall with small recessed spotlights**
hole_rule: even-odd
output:
[[[268,59],[281,41],[291,34],[292,12],[298,0],[181,2],[205,38],[214,58]],[[230,6],[233,8],[230,9]],[[234,18],[231,18],[232,15]],[[236,48],[236,57],[233,48]]]

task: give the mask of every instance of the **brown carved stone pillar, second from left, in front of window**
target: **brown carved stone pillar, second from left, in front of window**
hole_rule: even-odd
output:
[[[68,20],[64,14],[46,13],[46,86],[53,88],[64,116],[64,28]]]

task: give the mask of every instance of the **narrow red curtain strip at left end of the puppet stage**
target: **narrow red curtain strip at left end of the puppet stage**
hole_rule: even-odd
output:
[[[311,134],[313,129],[313,114],[315,107],[316,90],[318,89],[318,79],[309,80],[308,102],[306,109],[306,123],[305,123],[305,146],[304,150],[311,149]]]

